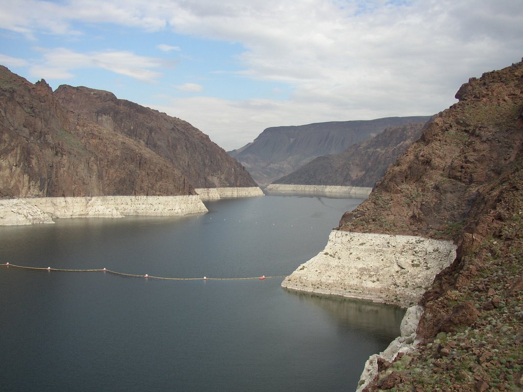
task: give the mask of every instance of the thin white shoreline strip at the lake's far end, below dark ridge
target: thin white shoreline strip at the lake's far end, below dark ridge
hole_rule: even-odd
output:
[[[265,191],[270,194],[311,194],[327,197],[366,199],[372,188],[338,187],[330,185],[270,184]]]

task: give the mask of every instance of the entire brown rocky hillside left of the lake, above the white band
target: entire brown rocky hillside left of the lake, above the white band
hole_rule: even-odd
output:
[[[186,121],[107,91],[36,84],[0,66],[0,197],[184,195],[255,187]]]

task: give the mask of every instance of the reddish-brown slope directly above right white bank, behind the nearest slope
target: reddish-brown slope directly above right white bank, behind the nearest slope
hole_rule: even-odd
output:
[[[521,63],[460,88],[369,200],[340,228],[458,239],[480,190],[513,165],[523,143]]]

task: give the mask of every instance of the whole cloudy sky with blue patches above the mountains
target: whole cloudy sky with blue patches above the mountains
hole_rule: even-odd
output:
[[[431,115],[523,56],[521,0],[0,0],[0,64],[112,91],[226,150],[265,128]]]

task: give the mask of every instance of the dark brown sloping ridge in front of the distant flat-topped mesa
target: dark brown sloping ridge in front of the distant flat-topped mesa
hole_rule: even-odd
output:
[[[317,157],[272,183],[372,188],[386,168],[419,139],[424,125],[417,122],[386,128],[343,153]]]

